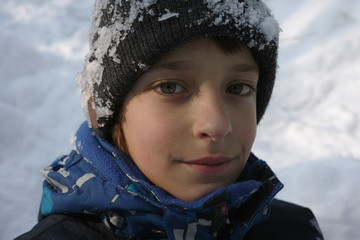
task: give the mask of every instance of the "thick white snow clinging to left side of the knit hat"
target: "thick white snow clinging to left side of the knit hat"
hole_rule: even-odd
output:
[[[119,56],[116,53],[116,49],[119,46],[120,40],[125,39],[127,34],[132,30],[133,22],[141,14],[142,10],[148,9],[149,6],[153,5],[156,0],[146,0],[146,1],[132,1],[129,14],[123,14],[117,8],[121,6],[120,1],[115,1],[115,4],[112,4],[108,7],[107,1],[96,1],[93,9],[93,23],[90,28],[89,41],[93,42],[89,53],[87,54],[86,66],[84,71],[77,74],[76,82],[79,88],[82,91],[82,110],[86,115],[86,118],[89,119],[88,106],[89,97],[93,93],[93,84],[100,85],[102,80],[102,75],[104,67],[102,66],[103,57],[106,53],[109,53],[109,56],[113,58],[113,61],[120,64],[121,61]],[[105,26],[102,26],[101,23],[102,15],[104,9],[108,7],[107,15],[111,16],[108,23]],[[140,16],[139,18],[142,18]],[[95,58],[94,58],[95,57]],[[91,59],[91,60],[90,60]],[[96,96],[94,97],[96,101],[96,117],[107,117],[111,116],[113,112],[110,110],[110,105],[103,103]],[[101,127],[101,126],[100,126]]]

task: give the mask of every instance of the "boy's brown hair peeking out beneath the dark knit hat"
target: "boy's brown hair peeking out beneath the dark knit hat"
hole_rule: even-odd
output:
[[[212,40],[225,54],[233,54],[237,51],[241,51],[246,47],[244,43],[242,43],[237,38],[231,37],[212,37],[209,38]],[[253,56],[254,57],[254,56]],[[255,61],[256,58],[254,57]],[[256,61],[257,62],[257,61]],[[130,156],[126,139],[124,136],[123,123],[125,121],[124,116],[124,106],[121,106],[118,115],[115,118],[114,125],[111,128],[111,139],[113,145],[118,148],[124,154]]]

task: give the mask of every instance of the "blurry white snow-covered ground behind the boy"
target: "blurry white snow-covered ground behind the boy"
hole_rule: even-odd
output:
[[[310,207],[328,240],[360,236],[360,2],[268,0],[283,32],[274,97],[254,152]],[[84,120],[81,71],[93,1],[0,4],[0,239],[36,223],[39,170]]]

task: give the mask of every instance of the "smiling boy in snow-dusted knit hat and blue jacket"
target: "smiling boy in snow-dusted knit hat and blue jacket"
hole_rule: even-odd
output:
[[[322,239],[251,153],[278,48],[263,2],[99,0],[90,33],[88,122],[19,239]]]

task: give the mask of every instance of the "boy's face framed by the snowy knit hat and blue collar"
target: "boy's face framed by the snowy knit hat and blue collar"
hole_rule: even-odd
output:
[[[124,102],[133,161],[152,183],[186,202],[234,183],[255,138],[258,78],[246,47],[225,54],[200,39],[171,52]]]

